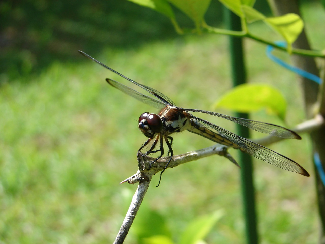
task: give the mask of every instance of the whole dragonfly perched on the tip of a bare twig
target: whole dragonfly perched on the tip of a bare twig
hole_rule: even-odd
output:
[[[170,163],[174,155],[172,149],[173,137],[171,137],[171,135],[173,133],[180,133],[185,130],[188,130],[189,132],[210,139],[213,142],[223,144],[231,148],[239,149],[242,152],[248,153],[256,158],[259,158],[267,163],[273,164],[279,168],[296,172],[304,176],[309,176],[309,173],[292,159],[283,156],[275,151],[272,151],[260,144],[252,142],[246,138],[240,137],[207,120],[194,116],[192,115],[192,113],[193,112],[204,113],[204,114],[221,117],[230,120],[232,122],[235,122],[237,124],[240,124],[242,126],[246,126],[249,129],[253,129],[272,136],[277,136],[281,138],[301,139],[301,137],[296,132],[275,124],[254,121],[245,118],[232,117],[232,116],[223,115],[223,114],[214,113],[205,110],[177,107],[170,98],[162,94],[160,91],[157,91],[146,85],[137,83],[136,81],[131,80],[130,78],[111,69],[107,65],[97,61],[96,59],[92,58],[85,52],[80,50],[79,52],[82,55],[84,55],[86,58],[95,61],[101,66],[105,67],[106,69],[114,72],[117,75],[122,76],[126,80],[146,90],[152,96],[155,97],[153,98],[151,96],[144,95],[132,88],[129,88],[128,86],[123,85],[120,82],[117,82],[110,78],[106,78],[106,81],[112,87],[121,90],[122,92],[130,95],[131,97],[137,99],[140,102],[143,102],[145,104],[160,109],[160,112],[158,114],[145,112],[142,115],[140,115],[138,119],[138,128],[146,137],[148,137],[148,140],[140,147],[138,152],[141,152],[151,141],[153,141],[153,143],[149,151],[147,151],[145,155],[160,152],[160,155],[157,158],[155,158],[152,162],[150,162],[150,167],[154,162],[156,162],[159,158],[161,158],[164,155],[164,147],[163,147],[164,142],[168,147],[167,156],[170,155],[169,160],[167,161],[164,169],[161,171],[160,180],[157,186],[159,186],[161,182],[162,173],[167,168],[168,164]],[[158,143],[159,145],[157,146]],[[156,147],[158,149],[156,149]]]

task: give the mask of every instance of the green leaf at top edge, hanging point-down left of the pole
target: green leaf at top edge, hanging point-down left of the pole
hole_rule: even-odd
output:
[[[208,9],[211,0],[168,0],[170,3],[184,12],[195,26],[200,26],[206,10]]]

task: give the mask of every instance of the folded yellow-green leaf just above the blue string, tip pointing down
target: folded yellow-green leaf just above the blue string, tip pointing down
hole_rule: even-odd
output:
[[[278,17],[266,18],[264,21],[283,36],[288,43],[288,51],[291,53],[292,43],[297,39],[304,28],[304,22],[300,16],[291,13]]]

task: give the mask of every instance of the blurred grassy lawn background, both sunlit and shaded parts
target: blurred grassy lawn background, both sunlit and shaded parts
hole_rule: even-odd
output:
[[[324,11],[316,2],[303,7],[312,46],[321,49]],[[123,80],[77,50],[179,106],[212,110],[231,87],[227,37],[178,36],[163,16],[127,1],[4,1],[0,10],[0,243],[112,242],[136,189],[118,183],[136,172],[136,152],[146,140],[137,118],[156,111],[109,87],[106,77]],[[213,2],[207,22],[220,26],[220,13]],[[181,13],[177,18],[191,25]],[[279,39],[259,23],[251,28]],[[295,75],[268,60],[264,45],[246,41],[245,48],[250,82],[279,88],[288,101],[286,126],[302,122]],[[252,118],[283,125],[264,111]],[[255,160],[261,243],[317,241],[314,172],[308,136],[302,137],[270,148],[305,167],[309,178]],[[174,152],[209,145],[182,133],[175,135]],[[190,220],[217,209],[225,215],[208,243],[244,243],[239,178],[239,169],[218,156],[166,170],[160,187],[149,187],[126,243],[136,243],[136,229],[155,224],[141,225],[148,212],[161,216],[177,241]]]

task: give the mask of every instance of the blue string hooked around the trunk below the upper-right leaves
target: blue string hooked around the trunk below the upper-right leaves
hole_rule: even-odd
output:
[[[276,44],[278,47],[286,47],[286,46],[287,46],[286,43],[283,42],[283,41],[277,41],[277,42],[275,42],[275,44]],[[267,57],[268,57],[270,60],[272,60],[272,61],[278,63],[278,64],[281,65],[282,67],[284,67],[284,68],[286,68],[286,69],[288,69],[288,70],[290,70],[290,71],[292,71],[292,72],[294,72],[294,73],[296,73],[296,74],[298,74],[298,75],[300,75],[300,76],[303,76],[303,77],[305,77],[305,78],[307,78],[307,79],[310,79],[310,80],[312,80],[312,81],[315,81],[317,84],[321,84],[321,83],[322,83],[322,79],[321,79],[320,77],[318,77],[317,75],[310,74],[309,72],[307,72],[307,71],[305,71],[305,70],[302,70],[302,69],[299,69],[299,68],[297,68],[297,67],[294,67],[294,66],[292,66],[292,65],[290,65],[290,64],[288,64],[288,63],[286,63],[286,62],[284,62],[283,60],[280,60],[279,58],[275,57],[275,56],[272,54],[273,49],[274,49],[274,47],[272,47],[272,46],[270,46],[270,45],[268,45],[268,46],[266,47],[266,55],[267,55]]]

